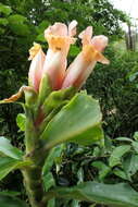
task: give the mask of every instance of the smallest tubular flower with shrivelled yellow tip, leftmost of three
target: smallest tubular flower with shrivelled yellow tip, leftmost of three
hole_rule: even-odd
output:
[[[45,53],[39,44],[34,42],[34,47],[29,50],[29,58],[32,60],[29,73],[28,73],[28,83],[35,90],[39,90],[39,84],[42,76],[42,69],[45,63]]]

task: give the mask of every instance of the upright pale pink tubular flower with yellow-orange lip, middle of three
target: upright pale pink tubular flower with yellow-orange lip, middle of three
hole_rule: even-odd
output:
[[[48,74],[52,89],[60,89],[62,86],[70,46],[76,40],[73,38],[76,34],[76,21],[72,21],[68,27],[65,24],[55,23],[45,31],[49,49],[43,65],[43,74]]]

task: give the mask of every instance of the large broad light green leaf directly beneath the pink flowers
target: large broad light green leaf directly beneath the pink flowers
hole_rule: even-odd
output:
[[[77,94],[51,120],[41,135],[46,148],[63,142],[89,145],[103,138],[99,102],[85,93]]]

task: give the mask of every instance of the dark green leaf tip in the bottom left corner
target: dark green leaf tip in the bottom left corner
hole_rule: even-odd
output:
[[[28,205],[13,196],[0,195],[0,206],[1,207],[28,207]]]

